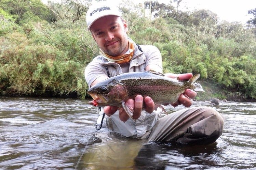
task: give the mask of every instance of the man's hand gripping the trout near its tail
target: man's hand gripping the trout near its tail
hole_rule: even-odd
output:
[[[179,80],[189,80],[193,77],[192,73],[186,73],[186,74],[172,74],[172,73],[166,73],[164,74],[167,77],[170,78],[179,78]],[[185,95],[184,95],[185,94]],[[189,98],[195,98],[197,96],[197,92],[186,89],[185,93],[181,94],[178,98],[178,101],[174,104],[172,104],[173,107],[176,107],[180,104],[184,105],[185,107],[190,107],[192,105],[192,101]],[[188,97],[189,98],[188,98]]]

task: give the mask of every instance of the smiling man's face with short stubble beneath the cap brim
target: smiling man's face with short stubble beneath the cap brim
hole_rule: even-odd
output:
[[[128,50],[127,24],[121,17],[109,15],[99,18],[90,30],[99,48],[106,54],[120,56]]]

